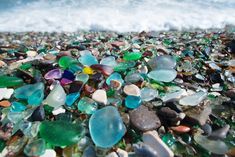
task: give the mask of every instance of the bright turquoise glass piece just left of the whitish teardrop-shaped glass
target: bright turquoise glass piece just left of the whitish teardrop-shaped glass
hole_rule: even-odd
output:
[[[44,91],[43,90],[36,90],[29,98],[28,104],[30,105],[40,105],[44,98]]]

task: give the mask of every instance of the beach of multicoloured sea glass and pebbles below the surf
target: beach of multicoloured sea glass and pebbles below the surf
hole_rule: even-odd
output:
[[[0,33],[0,156],[234,157],[235,31]]]

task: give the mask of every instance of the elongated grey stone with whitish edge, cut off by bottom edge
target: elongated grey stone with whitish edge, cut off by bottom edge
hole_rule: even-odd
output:
[[[159,157],[174,157],[171,149],[161,140],[157,131],[145,132],[142,136],[143,142],[152,147]]]

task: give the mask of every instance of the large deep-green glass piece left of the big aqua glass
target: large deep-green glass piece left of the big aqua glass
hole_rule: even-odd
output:
[[[68,121],[43,121],[39,132],[46,142],[54,146],[76,144],[85,135],[85,129],[80,124]]]

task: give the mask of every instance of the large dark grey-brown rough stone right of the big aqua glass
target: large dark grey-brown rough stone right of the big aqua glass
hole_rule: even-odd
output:
[[[161,121],[155,111],[149,111],[143,105],[129,113],[131,123],[141,131],[153,130],[161,126]]]

